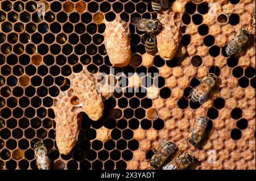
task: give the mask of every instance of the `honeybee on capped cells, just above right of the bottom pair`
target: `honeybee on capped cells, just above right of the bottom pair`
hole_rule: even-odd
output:
[[[201,141],[205,132],[205,128],[208,125],[208,121],[209,119],[205,116],[201,116],[196,120],[195,128],[192,129],[188,137],[188,143],[190,145],[196,146]]]

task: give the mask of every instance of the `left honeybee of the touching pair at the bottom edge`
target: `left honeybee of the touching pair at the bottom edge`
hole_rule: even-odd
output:
[[[150,166],[154,169],[158,169],[166,161],[170,155],[174,154],[177,146],[173,142],[163,140],[158,146],[158,149],[154,151],[154,155],[151,159],[148,159]]]

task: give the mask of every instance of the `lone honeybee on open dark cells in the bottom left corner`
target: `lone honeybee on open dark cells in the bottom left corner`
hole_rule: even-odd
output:
[[[43,142],[36,142],[34,145],[36,165],[38,165],[39,170],[49,170],[51,168],[51,161],[47,155],[46,146]]]

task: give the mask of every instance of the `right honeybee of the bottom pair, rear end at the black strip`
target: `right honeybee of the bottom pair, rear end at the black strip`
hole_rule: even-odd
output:
[[[183,154],[178,156],[177,158],[172,159],[170,163],[167,163],[163,166],[163,170],[181,170],[187,168],[191,163],[193,163],[194,159],[190,154]]]

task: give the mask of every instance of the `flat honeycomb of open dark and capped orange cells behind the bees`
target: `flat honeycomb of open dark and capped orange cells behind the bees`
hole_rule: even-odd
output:
[[[195,157],[188,169],[255,169],[255,37],[238,56],[225,54],[233,27],[238,32],[241,24],[253,23],[255,2],[177,1],[185,6],[185,56],[164,61],[147,54],[142,32],[130,25],[130,65],[114,74],[123,73],[118,80],[130,79],[130,72],[145,76],[120,84],[105,101],[100,120],[84,114],[79,141],[62,155],[55,142],[53,99],[68,89],[72,73],[110,74],[103,20],[161,15],[150,0],[1,0],[0,169],[38,169],[33,146],[39,140],[53,169],[151,169],[147,159],[163,139],[174,141],[179,154]],[[42,2],[44,16],[37,14]],[[204,104],[191,102],[188,92],[199,84],[196,77],[209,72],[219,76],[217,86]],[[207,138],[193,148],[186,138],[201,115],[210,119]]]

